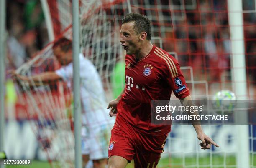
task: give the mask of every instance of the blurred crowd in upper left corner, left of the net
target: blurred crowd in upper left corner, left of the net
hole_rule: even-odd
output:
[[[7,70],[20,67],[49,42],[40,0],[7,0]]]

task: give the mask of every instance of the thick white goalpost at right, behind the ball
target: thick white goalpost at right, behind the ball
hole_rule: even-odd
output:
[[[228,21],[230,28],[231,42],[231,78],[233,90],[238,100],[247,100],[246,85],[246,61],[245,45],[243,34],[243,8],[242,0],[228,0]],[[248,123],[248,113],[246,110],[235,114],[237,123]],[[238,168],[250,167],[249,153],[249,126],[236,125],[237,148],[236,160]]]

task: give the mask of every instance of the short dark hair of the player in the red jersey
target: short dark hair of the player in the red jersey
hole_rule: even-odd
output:
[[[147,40],[151,40],[151,21],[139,13],[129,13],[122,19],[122,23],[134,22],[134,30],[137,33],[146,32]]]

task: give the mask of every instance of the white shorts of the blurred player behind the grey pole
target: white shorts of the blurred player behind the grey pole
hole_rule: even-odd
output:
[[[112,124],[82,126],[82,154],[90,160],[108,158],[108,145]]]

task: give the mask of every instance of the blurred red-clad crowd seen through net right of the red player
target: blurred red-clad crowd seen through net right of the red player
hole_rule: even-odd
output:
[[[166,33],[164,49],[176,51],[182,66],[192,66],[194,80],[207,80],[209,83],[230,81],[231,49],[227,2],[225,0],[197,2],[196,10],[185,10],[185,20],[174,21],[175,32]],[[247,77],[249,82],[255,85],[256,9],[254,6],[253,1],[243,0],[243,10],[251,10],[243,14]]]

